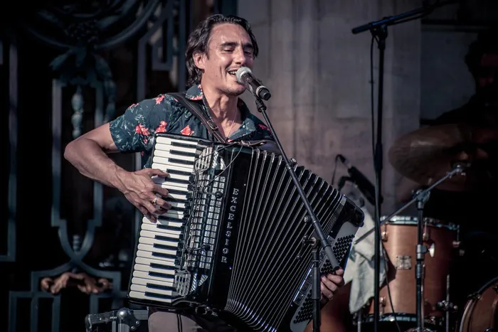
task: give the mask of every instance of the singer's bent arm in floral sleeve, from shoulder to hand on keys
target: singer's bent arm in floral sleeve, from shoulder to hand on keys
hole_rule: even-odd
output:
[[[163,98],[161,98],[162,100]],[[125,171],[117,166],[108,154],[112,152],[145,151],[152,136],[146,127],[150,118],[158,114],[166,117],[163,105],[155,100],[134,104],[110,124],[103,124],[83,134],[66,146],[64,157],[84,176],[106,186],[117,188],[149,220],[164,214],[171,205],[166,202],[168,191],[154,183],[153,176],[166,177],[167,173],[153,168]],[[155,107],[158,105],[158,107]],[[164,120],[162,120],[164,122]],[[158,123],[159,125],[159,123]]]

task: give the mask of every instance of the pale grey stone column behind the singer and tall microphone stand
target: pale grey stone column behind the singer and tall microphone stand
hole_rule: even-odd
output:
[[[418,6],[418,0],[239,1],[238,14],[250,21],[260,45],[253,72],[272,92],[270,120],[289,156],[331,180],[334,159],[343,154],[374,181],[371,34],[353,35],[351,28]],[[377,89],[376,43],[373,65]],[[420,117],[418,20],[388,28],[383,96],[382,213],[388,214],[399,176],[387,152],[394,139],[418,128]],[[251,98],[244,96],[250,106]],[[339,164],[336,181],[342,175]]]

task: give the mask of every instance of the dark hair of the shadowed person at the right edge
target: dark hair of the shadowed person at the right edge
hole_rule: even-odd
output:
[[[480,67],[482,55],[498,53],[498,26],[491,26],[477,35],[477,40],[470,44],[465,64],[470,73],[475,75]]]

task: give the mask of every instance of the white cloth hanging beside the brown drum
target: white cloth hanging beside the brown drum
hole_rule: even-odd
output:
[[[375,224],[366,208],[361,209],[365,213],[364,226],[360,227],[356,232],[351,245],[351,251],[349,252],[346,269],[344,270],[344,282],[346,284],[351,282],[351,294],[349,296],[349,311],[351,313],[359,311],[362,306],[366,305],[369,302],[369,299],[373,298],[375,292],[373,287],[373,281],[375,279],[375,260],[373,257],[375,253],[375,250],[373,250],[375,245],[375,232],[371,232],[364,239],[356,242],[361,235],[364,235],[366,232],[373,229]],[[382,255],[382,244],[380,252],[381,271],[379,281],[381,285],[386,278],[386,265]]]

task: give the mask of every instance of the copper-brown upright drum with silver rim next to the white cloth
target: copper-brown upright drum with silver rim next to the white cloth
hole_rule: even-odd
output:
[[[451,257],[454,254],[453,245],[457,241],[460,228],[455,224],[443,223],[433,218],[424,218],[420,223],[418,218],[406,215],[397,215],[391,220],[386,218],[381,220],[383,220],[382,231],[388,235],[383,242],[383,251],[386,252],[386,259],[391,262],[392,267],[388,271],[390,289],[388,290],[384,284],[379,296],[381,331],[405,332],[417,324],[415,259],[418,225],[425,225],[426,241],[423,245],[429,253],[424,261],[424,328],[425,331],[444,331],[447,319],[445,311],[438,307],[438,303],[450,299],[447,275],[450,273]],[[373,301],[363,310],[365,313],[362,328],[371,332]]]

